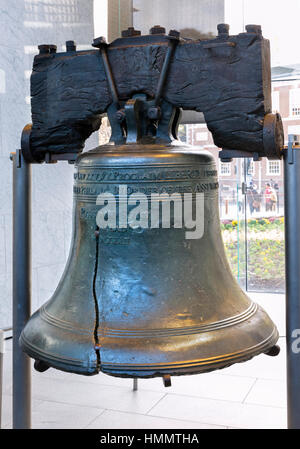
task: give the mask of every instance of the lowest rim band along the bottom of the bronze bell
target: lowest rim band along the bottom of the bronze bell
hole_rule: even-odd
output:
[[[70,359],[66,357],[50,356],[48,353],[35,350],[33,345],[28,342],[23,333],[20,336],[20,345],[24,352],[36,360],[42,360],[51,368],[59,369],[75,374],[86,376],[99,374],[109,374],[116,377],[137,377],[151,378],[159,377],[164,374],[172,376],[200,374],[217,369],[227,368],[235,363],[245,362],[252,359],[256,355],[266,353],[273,347],[279,338],[279,333],[274,325],[273,331],[269,337],[262,342],[254,345],[246,350],[237,351],[236,353],[223,354],[221,356],[210,357],[206,359],[191,360],[185,362],[161,363],[161,364],[109,364],[101,363],[97,366],[96,361],[90,363],[89,366],[83,364],[80,359]],[[42,355],[42,357],[41,357]]]

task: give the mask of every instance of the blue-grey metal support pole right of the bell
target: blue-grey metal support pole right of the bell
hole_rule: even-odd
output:
[[[288,427],[300,429],[300,146],[289,136],[284,161]]]

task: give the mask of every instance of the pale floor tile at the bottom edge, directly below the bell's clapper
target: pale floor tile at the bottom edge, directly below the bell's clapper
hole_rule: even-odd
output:
[[[225,429],[212,424],[106,410],[88,429]]]

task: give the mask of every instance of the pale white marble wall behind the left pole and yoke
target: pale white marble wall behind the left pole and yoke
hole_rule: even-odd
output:
[[[91,48],[93,0],[0,0],[0,327],[11,325],[12,163],[30,118],[30,82],[38,44],[66,40]],[[97,145],[93,135],[86,148]],[[33,166],[33,309],[56,287],[69,249],[73,167]]]

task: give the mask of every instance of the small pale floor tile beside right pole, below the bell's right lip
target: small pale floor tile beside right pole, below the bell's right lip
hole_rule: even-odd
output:
[[[286,400],[286,384],[284,381],[258,379],[245,403],[285,408]]]

